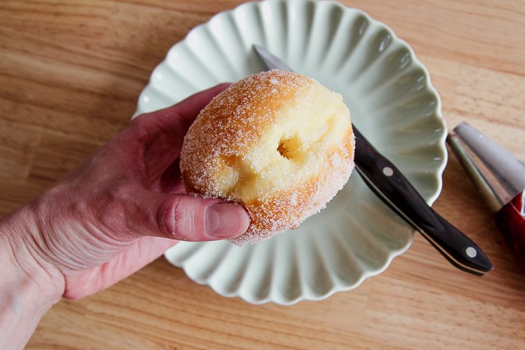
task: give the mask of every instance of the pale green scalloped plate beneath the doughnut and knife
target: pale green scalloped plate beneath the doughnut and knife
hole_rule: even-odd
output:
[[[427,70],[367,14],[331,1],[263,1],[191,30],[153,71],[137,114],[264,69],[253,43],[341,93],[352,121],[429,204],[441,191],[446,127]],[[182,242],[166,259],[195,282],[252,303],[293,304],[352,289],[408,249],[412,229],[357,173],[299,229],[253,246]]]

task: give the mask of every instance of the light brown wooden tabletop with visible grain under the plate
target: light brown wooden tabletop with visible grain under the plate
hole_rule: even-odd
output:
[[[410,43],[449,128],[468,121],[524,154],[524,1],[344,2]],[[166,50],[238,3],[1,1],[0,213],[122,130]],[[462,273],[416,235],[385,273],[354,291],[253,306],[160,258],[102,293],[59,302],[28,349],[525,349],[525,277],[453,156],[435,208],[478,242],[493,272]]]

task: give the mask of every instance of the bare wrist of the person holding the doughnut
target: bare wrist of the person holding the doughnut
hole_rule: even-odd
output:
[[[28,206],[0,220],[0,348],[22,348],[64,293],[64,277],[39,255]]]

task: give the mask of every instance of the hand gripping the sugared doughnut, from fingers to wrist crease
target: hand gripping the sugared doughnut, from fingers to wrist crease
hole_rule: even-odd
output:
[[[242,206],[184,194],[180,180],[183,137],[199,111],[226,87],[133,119],[24,208],[22,226],[28,233],[18,235],[14,245],[30,247],[48,275],[63,276],[64,297],[105,289],[177,240],[221,240],[245,233],[249,217]]]

